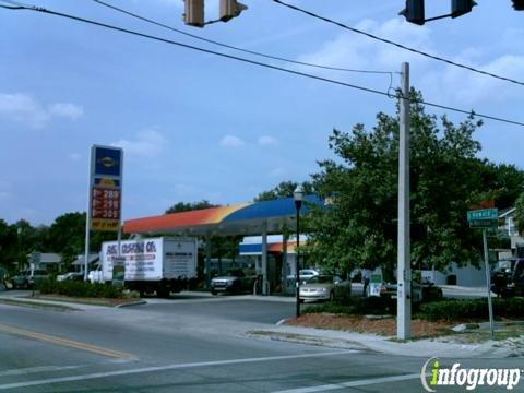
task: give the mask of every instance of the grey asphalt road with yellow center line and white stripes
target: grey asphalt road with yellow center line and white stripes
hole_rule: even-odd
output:
[[[0,305],[0,392],[421,391],[427,359],[243,334],[293,312],[293,303],[241,297],[70,312]]]

